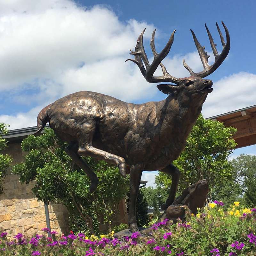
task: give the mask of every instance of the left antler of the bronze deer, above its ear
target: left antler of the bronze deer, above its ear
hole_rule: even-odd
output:
[[[149,83],[172,82],[174,84],[180,84],[181,79],[171,76],[167,72],[164,65],[161,63],[161,61],[164,59],[164,57],[170,52],[170,49],[171,49],[171,46],[173,43],[174,33],[176,30],[174,30],[172,32],[172,35],[171,35],[169,41],[167,42],[164,49],[160,53],[157,53],[156,48],[155,48],[156,29],[153,31],[152,38],[150,40],[151,50],[154,55],[154,60],[153,60],[152,64],[149,64],[148,57],[145,53],[144,46],[143,46],[143,34],[144,34],[145,30],[146,30],[146,28],[141,32],[140,36],[138,37],[137,44],[135,46],[135,51],[133,52],[132,50],[130,50],[131,51],[130,54],[134,55],[134,60],[132,60],[132,59],[128,59],[128,60],[131,60],[138,65],[138,67],[140,68],[140,72],[142,73],[142,75],[146,78],[146,80]],[[144,62],[146,69],[145,69],[142,61]],[[161,66],[163,75],[162,76],[153,76],[158,65]]]

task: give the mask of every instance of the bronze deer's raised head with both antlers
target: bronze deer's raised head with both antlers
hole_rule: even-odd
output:
[[[198,42],[198,40],[196,38],[195,33],[193,32],[193,30],[190,29],[193,39],[194,39],[194,42],[196,44],[196,48],[199,53],[200,59],[203,63],[204,69],[201,72],[198,72],[198,73],[193,72],[192,69],[190,67],[188,67],[185,60],[183,60],[183,65],[186,69],[188,69],[190,76],[184,77],[184,78],[176,78],[174,76],[171,76],[167,72],[164,65],[161,63],[161,61],[164,59],[164,57],[170,52],[170,49],[171,49],[171,46],[173,43],[173,39],[174,39],[174,33],[176,30],[174,30],[172,32],[172,35],[171,35],[168,43],[165,45],[164,49],[160,53],[157,53],[156,49],[155,49],[155,32],[156,32],[156,30],[153,31],[152,38],[150,40],[150,46],[151,46],[151,49],[152,49],[152,52],[154,55],[154,60],[153,60],[152,64],[149,64],[148,57],[145,53],[144,46],[143,46],[143,34],[145,32],[145,29],[144,29],[137,40],[137,44],[135,46],[135,51],[130,50],[131,51],[130,54],[134,55],[134,60],[132,60],[132,59],[128,59],[128,60],[131,60],[138,65],[142,75],[146,78],[146,80],[148,82],[150,82],[150,83],[171,82],[171,83],[176,84],[176,85],[158,84],[157,88],[161,92],[163,92],[165,94],[176,95],[177,97],[186,96],[186,98],[190,101],[195,100],[195,101],[199,101],[200,103],[203,103],[204,100],[206,99],[208,93],[212,92],[212,80],[206,80],[203,78],[205,76],[212,74],[220,66],[220,64],[223,62],[223,60],[225,60],[225,58],[227,57],[228,52],[230,50],[230,37],[229,37],[228,29],[223,22],[222,22],[222,25],[225,29],[227,43],[225,43],[222,33],[220,31],[220,28],[216,22],[216,26],[217,26],[218,32],[220,34],[221,44],[223,47],[223,50],[220,53],[220,55],[217,52],[216,44],[214,44],[214,42],[213,42],[212,35],[211,35],[209,29],[207,28],[206,24],[204,24],[204,25],[205,25],[207,34],[210,39],[212,52],[215,56],[215,62],[212,65],[209,65],[209,63],[208,63],[208,58],[210,56],[207,55],[207,52],[204,51],[204,46],[201,46],[201,44]],[[144,67],[143,63],[146,68]],[[153,76],[158,65],[161,66],[163,75],[162,76]]]

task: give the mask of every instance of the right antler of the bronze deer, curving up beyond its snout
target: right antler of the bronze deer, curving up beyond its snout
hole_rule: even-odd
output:
[[[225,58],[227,57],[228,52],[230,50],[230,37],[229,37],[229,33],[228,33],[228,28],[225,26],[223,21],[221,21],[221,23],[222,23],[222,25],[223,25],[223,27],[225,29],[225,32],[226,32],[227,43],[225,43],[224,38],[222,36],[222,33],[220,31],[220,28],[218,26],[218,23],[216,22],[216,26],[217,26],[218,32],[220,34],[221,44],[222,44],[222,47],[223,47],[223,50],[220,53],[220,55],[217,52],[216,44],[214,44],[214,42],[213,42],[212,35],[211,35],[210,31],[207,28],[206,24],[204,23],[204,26],[206,28],[207,34],[208,34],[209,39],[210,39],[210,44],[211,44],[211,47],[212,47],[212,52],[213,52],[213,54],[215,56],[215,61],[214,61],[214,63],[211,66],[208,63],[208,58],[210,56],[207,55],[207,52],[204,51],[204,46],[202,47],[202,45],[198,42],[195,33],[193,32],[192,29],[190,29],[190,31],[192,33],[192,36],[193,36],[193,39],[194,39],[194,42],[196,44],[196,48],[197,48],[197,51],[199,53],[200,59],[201,59],[201,61],[203,63],[203,66],[204,66],[204,70],[203,71],[201,71],[199,73],[195,73],[195,72],[192,71],[191,68],[188,67],[188,65],[186,64],[185,60],[183,60],[183,65],[184,65],[185,68],[188,69],[188,71],[189,71],[191,76],[199,76],[201,78],[203,78],[205,76],[209,76],[210,74],[212,74],[220,66],[220,64],[223,62],[223,60],[225,60]]]

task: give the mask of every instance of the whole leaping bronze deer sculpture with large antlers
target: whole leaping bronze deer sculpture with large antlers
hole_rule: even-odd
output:
[[[97,188],[98,178],[81,156],[91,156],[116,164],[124,177],[130,173],[129,224],[132,232],[138,230],[135,207],[143,170],[159,170],[171,175],[170,195],[162,208],[166,209],[174,201],[180,171],[172,165],[172,161],[177,159],[184,149],[188,134],[201,113],[202,105],[208,93],[212,92],[212,81],[202,78],[212,74],[220,66],[230,49],[227,27],[222,22],[227,38],[225,43],[220,28],[217,23],[216,25],[223,46],[222,52],[218,54],[216,44],[205,25],[215,56],[215,62],[209,65],[209,56],[191,30],[204,70],[195,73],[183,60],[184,67],[191,75],[184,78],[171,76],[161,63],[171,49],[175,30],[159,54],[155,49],[154,30],[150,41],[154,55],[152,64],[149,64],[144,51],[145,29],[142,31],[135,51],[130,53],[134,55],[132,61],[139,66],[148,82],[176,84],[157,85],[160,91],[168,94],[165,100],[133,104],[97,92],[82,91],[56,100],[38,114],[36,133],[40,133],[49,122],[56,135],[69,143],[66,152],[89,176],[90,192]],[[159,65],[163,75],[153,76]]]

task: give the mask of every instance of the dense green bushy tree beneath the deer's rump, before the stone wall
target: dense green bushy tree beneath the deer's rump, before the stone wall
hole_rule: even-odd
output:
[[[98,188],[90,194],[89,178],[71,161],[64,151],[66,147],[52,129],[45,129],[41,136],[29,135],[21,143],[27,152],[25,162],[15,164],[12,172],[20,175],[22,183],[36,181],[32,190],[38,200],[64,204],[74,227],[89,227],[94,233],[99,217],[103,216],[110,231],[117,204],[128,192],[128,180],[114,166],[83,157],[99,178]]]

